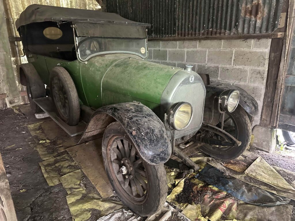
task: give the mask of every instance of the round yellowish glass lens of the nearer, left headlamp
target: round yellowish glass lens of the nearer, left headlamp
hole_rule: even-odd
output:
[[[183,104],[175,113],[174,126],[181,130],[186,127],[191,119],[191,105]]]

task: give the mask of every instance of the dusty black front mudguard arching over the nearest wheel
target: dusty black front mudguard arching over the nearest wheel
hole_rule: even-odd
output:
[[[97,109],[81,141],[104,132],[114,121],[124,127],[143,160],[153,165],[168,161],[172,148],[163,122],[152,110],[138,102],[112,104]]]

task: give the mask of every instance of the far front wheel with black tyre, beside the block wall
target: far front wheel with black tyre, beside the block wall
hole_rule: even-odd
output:
[[[217,126],[220,126],[218,124]],[[224,117],[224,131],[230,133],[237,140],[241,141],[240,146],[217,146],[204,145],[200,149],[216,159],[232,160],[240,156],[249,146],[251,138],[251,124],[245,110],[238,105],[237,109],[230,113],[226,112]],[[212,133],[214,138],[222,139]]]

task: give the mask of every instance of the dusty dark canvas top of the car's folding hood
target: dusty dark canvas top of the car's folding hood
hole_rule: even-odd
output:
[[[18,29],[22,25],[46,21],[92,22],[150,27],[150,24],[134,22],[115,13],[38,4],[29,5],[20,14],[15,25]]]

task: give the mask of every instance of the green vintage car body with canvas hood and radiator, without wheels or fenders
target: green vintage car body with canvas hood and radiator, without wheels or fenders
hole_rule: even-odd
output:
[[[97,110],[137,101],[164,122],[169,106],[184,102],[191,105],[190,117],[186,127],[175,132],[175,138],[192,136],[201,127],[205,85],[189,67],[184,70],[145,60],[146,27],[150,24],[112,13],[30,5],[16,26],[28,62],[38,75],[29,73],[32,68],[26,73],[24,64],[20,77],[31,81],[30,86],[39,85],[40,90],[45,84],[48,96],[53,95],[50,76],[59,67],[73,80],[80,105]],[[27,86],[26,80],[23,85]],[[31,91],[32,98],[44,97],[43,92],[34,95],[34,89]],[[160,126],[167,129],[163,123]]]

